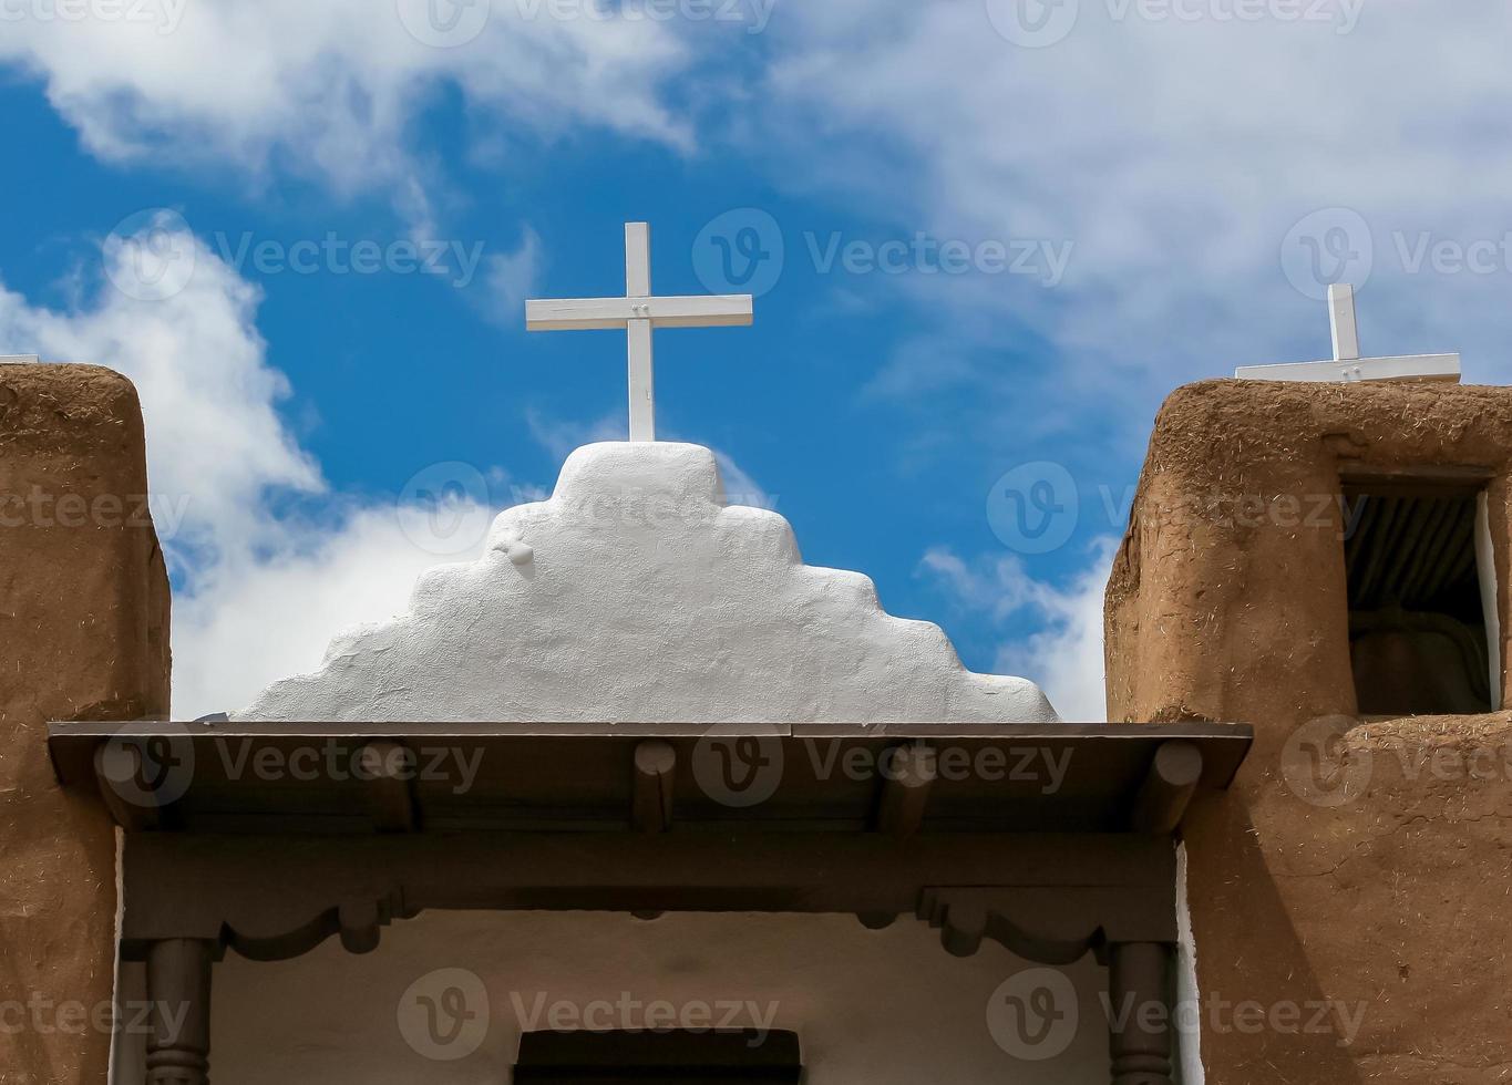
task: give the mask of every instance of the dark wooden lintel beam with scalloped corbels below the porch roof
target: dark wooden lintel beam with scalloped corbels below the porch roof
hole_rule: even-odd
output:
[[[390,836],[127,836],[122,949],[168,937],[225,938],[283,960],[334,934],[358,949],[378,922],[440,910],[792,911],[913,914],[930,887],[963,922],[974,895],[1046,931],[1072,898],[1108,937],[1154,940],[1175,925],[1170,840],[1132,834],[476,833]],[[996,887],[996,889],[993,889]],[[965,896],[963,896],[965,895]],[[1090,895],[1090,896],[1089,896]],[[968,899],[972,898],[972,899]],[[930,914],[940,914],[937,910]],[[1126,925],[1126,926],[1120,926]],[[1025,922],[1025,928],[1034,923]],[[1075,937],[1081,938],[1083,931]],[[951,935],[959,949],[966,938]],[[1037,934],[1028,944],[1051,944]],[[1078,943],[1080,944],[1080,943]]]

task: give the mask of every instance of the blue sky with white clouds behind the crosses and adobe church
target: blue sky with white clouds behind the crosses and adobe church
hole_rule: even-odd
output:
[[[402,607],[425,493],[623,437],[623,335],[522,308],[621,292],[629,219],[659,293],[759,293],[658,334],[661,435],[1067,716],[1170,388],[1326,357],[1332,278],[1506,378],[1504,5],[434,3],[5,8],[0,352],[142,391],[177,715]]]

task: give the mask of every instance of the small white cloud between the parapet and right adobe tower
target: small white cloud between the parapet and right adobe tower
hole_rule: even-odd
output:
[[[1067,722],[1101,722],[1107,719],[1102,592],[1116,552],[1117,539],[1096,539],[1087,564],[1060,588],[1031,577],[1012,555],[966,562],[948,547],[933,547],[919,567],[992,626],[1036,629],[999,644],[993,669],[1037,683]]]

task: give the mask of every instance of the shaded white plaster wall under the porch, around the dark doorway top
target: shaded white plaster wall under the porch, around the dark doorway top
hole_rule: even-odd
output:
[[[853,916],[667,914],[644,923],[605,913],[425,913],[387,928],[364,957],[334,938],[275,964],[227,954],[215,969],[212,1074],[218,1085],[499,1085],[510,1079],[520,1019],[535,1006],[596,1014],[599,1028],[614,1028],[621,1011],[605,1015],[602,1003],[623,994],[679,1014],[697,1012],[699,1002],[748,1003],[762,1015],[774,1008],[773,1028],[800,1035],[806,1085],[1107,1082],[1107,973],[1090,954],[1064,970],[1077,991],[1075,1008],[1064,1008],[1077,1022],[1052,1058],[1024,1061],[995,1043],[989,1003],[1034,967],[990,941],[975,957],[951,957],[939,932],[912,917],[868,931]],[[461,984],[467,1012],[479,1017],[470,1035],[452,1034],[460,1046],[431,1047],[416,1017],[417,997],[440,999],[457,981],[426,979],[437,969],[481,981]],[[733,1023],[754,1019],[744,1012]],[[632,1009],[624,1023],[640,1020]],[[437,1023],[445,1038],[454,1019]],[[472,1044],[463,1058],[434,1058]]]

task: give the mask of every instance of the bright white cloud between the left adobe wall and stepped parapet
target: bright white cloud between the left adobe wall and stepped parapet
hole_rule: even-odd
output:
[[[481,552],[490,490],[540,490],[500,468],[485,481],[438,464],[395,502],[333,502],[278,417],[287,382],[266,361],[256,287],[192,234],[159,242],[172,255],[162,278],[148,264],[144,281],[144,252],[113,246],[110,284],[68,311],[0,287],[0,352],[104,364],[136,384],[153,515],[178,583],[174,712],[187,718],[313,669],[333,632],[404,611],[422,570]],[[153,299],[151,286],[168,289]],[[275,515],[289,493],[321,496],[324,518]]]

